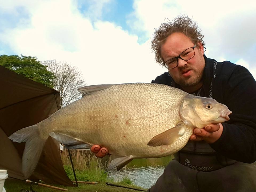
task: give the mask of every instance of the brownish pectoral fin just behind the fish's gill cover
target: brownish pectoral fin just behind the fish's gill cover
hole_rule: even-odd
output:
[[[183,122],[177,123],[175,127],[153,137],[147,145],[153,147],[171,145],[185,133],[186,128],[187,126]]]

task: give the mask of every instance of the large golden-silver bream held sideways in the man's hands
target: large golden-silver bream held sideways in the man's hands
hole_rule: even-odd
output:
[[[25,178],[35,169],[49,135],[73,149],[94,144],[106,147],[119,157],[107,171],[119,170],[133,158],[176,153],[195,127],[227,121],[231,113],[214,99],[161,84],[94,85],[79,91],[81,99],[9,137],[26,142],[22,156]]]

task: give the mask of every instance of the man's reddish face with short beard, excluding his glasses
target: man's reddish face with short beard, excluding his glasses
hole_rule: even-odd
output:
[[[193,47],[194,43],[183,33],[173,33],[167,37],[161,46],[161,55],[164,61],[177,57],[184,50]],[[178,66],[168,69],[173,80],[182,88],[197,87],[201,83],[205,60],[203,46],[197,43],[195,55],[188,61],[178,59]]]

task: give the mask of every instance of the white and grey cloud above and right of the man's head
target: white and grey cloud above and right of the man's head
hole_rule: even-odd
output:
[[[134,12],[127,21],[134,31],[150,38],[161,23],[180,14],[193,17],[205,34],[206,56],[232,62],[244,59],[255,66],[256,2],[241,1],[169,1],[135,0]]]

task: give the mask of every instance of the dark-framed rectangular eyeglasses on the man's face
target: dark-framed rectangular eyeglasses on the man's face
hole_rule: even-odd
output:
[[[165,67],[167,69],[173,69],[175,67],[178,66],[178,59],[181,58],[184,61],[188,61],[189,59],[191,59],[192,57],[195,56],[195,46],[197,44],[194,45],[194,47],[190,47],[188,49],[186,49],[185,51],[183,51],[181,54],[179,54],[179,56],[171,58],[169,60],[167,60],[166,62],[164,62],[163,64],[165,65]]]

